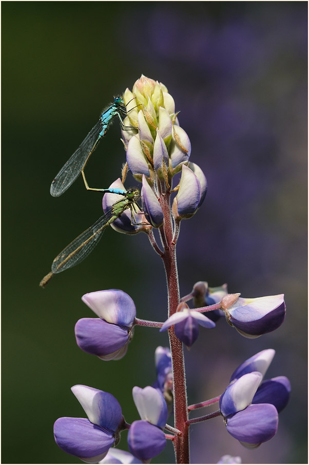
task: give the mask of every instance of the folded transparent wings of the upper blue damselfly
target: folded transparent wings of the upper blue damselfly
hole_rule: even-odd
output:
[[[93,152],[100,140],[99,134],[102,129],[103,124],[99,120],[85,137],[80,147],[75,150],[67,163],[61,168],[50,186],[50,193],[53,197],[62,195],[79,176],[88,155]]]

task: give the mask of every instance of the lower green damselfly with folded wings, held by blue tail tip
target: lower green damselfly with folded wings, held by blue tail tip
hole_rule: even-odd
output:
[[[108,210],[98,221],[96,221],[90,228],[86,229],[84,233],[76,237],[69,245],[67,245],[59,255],[53,260],[51,265],[51,272],[44,276],[40,282],[40,286],[45,288],[49,280],[55,273],[61,273],[72,266],[77,265],[84,260],[93,248],[98,244],[99,240],[104,233],[104,230],[113,223],[121,214],[128,208],[131,210],[131,223],[137,224],[133,212],[138,213],[140,209],[136,203],[140,198],[140,191],[137,188],[132,188],[127,191],[122,189],[101,189],[102,192],[110,192],[114,194],[123,195],[123,199],[115,202],[111,209]]]

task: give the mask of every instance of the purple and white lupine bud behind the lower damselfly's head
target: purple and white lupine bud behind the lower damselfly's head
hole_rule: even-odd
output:
[[[133,138],[131,140],[133,140]],[[120,178],[114,181],[109,186],[109,188],[118,188],[118,189],[125,190],[125,187],[122,184]],[[123,200],[123,199],[124,199],[123,195],[111,194],[109,192],[106,193],[103,196],[103,200],[102,200],[102,206],[103,206],[104,213],[109,211],[112,208],[114,203],[120,200]],[[131,210],[128,208],[121,214],[119,218],[117,218],[117,220],[113,221],[113,223],[111,223],[110,226],[115,231],[118,231],[118,233],[125,233],[125,234],[137,234],[137,233],[140,233],[140,231],[143,231],[146,228],[150,227],[147,225],[145,226],[145,225],[139,224],[139,223],[145,222],[145,219],[142,214],[133,213],[133,217],[134,217],[134,224],[132,224]]]

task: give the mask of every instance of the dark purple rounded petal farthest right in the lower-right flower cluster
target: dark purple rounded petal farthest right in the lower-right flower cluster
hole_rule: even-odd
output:
[[[285,376],[278,376],[261,383],[252,400],[253,404],[273,404],[278,413],[289,401],[291,383]]]

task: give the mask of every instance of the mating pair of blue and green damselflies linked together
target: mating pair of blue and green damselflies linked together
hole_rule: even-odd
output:
[[[128,102],[129,103],[129,102]],[[106,134],[108,126],[114,116],[118,116],[121,122],[121,126],[125,130],[137,130],[138,128],[124,126],[121,116],[127,116],[126,105],[122,97],[115,97],[114,102],[104,111],[95,126],[83,140],[82,144],[73,155],[68,159],[63,168],[54,178],[51,186],[50,193],[53,196],[62,195],[76,180],[80,173],[83,175],[85,186],[88,190],[100,191],[105,193],[120,194],[123,197],[115,202],[110,210],[105,212],[99,220],[97,220],[92,226],[86,229],[80,236],[74,239],[69,245],[67,245],[63,251],[55,257],[52,262],[51,272],[48,273],[40,282],[40,286],[44,288],[48,284],[49,280],[56,273],[60,273],[72,266],[77,265],[84,260],[96,244],[98,244],[107,226],[117,220],[124,211],[130,209],[131,212],[131,223],[138,224],[134,220],[133,212],[138,213],[138,210],[142,212],[142,209],[137,204],[140,199],[140,191],[138,188],[132,188],[129,190],[123,189],[92,189],[89,188],[84,174],[85,166],[90,158],[90,155],[98,145],[100,139]]]

